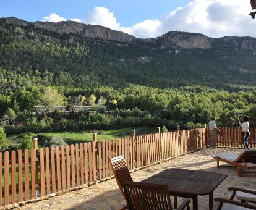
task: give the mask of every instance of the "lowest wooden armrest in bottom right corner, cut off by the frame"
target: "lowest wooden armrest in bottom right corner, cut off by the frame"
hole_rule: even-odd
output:
[[[215,202],[220,202],[217,210],[246,210],[246,209],[256,209],[255,205],[250,205],[247,203],[242,203],[239,201],[233,201],[227,198],[215,198]]]

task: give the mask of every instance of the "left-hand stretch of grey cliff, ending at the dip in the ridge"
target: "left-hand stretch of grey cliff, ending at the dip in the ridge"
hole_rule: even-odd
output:
[[[1,19],[0,23],[19,25],[23,27],[29,26],[41,30],[47,30],[59,35],[75,35],[82,36],[87,39],[100,38],[102,40],[118,41],[121,43],[131,43],[136,39],[134,36],[122,33],[121,31],[111,30],[110,28],[102,27],[100,25],[86,25],[74,21],[62,21],[58,23],[37,21],[35,23],[30,23],[15,17],[9,17]]]

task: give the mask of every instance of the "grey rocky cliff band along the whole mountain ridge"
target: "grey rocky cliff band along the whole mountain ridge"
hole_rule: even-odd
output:
[[[97,39],[116,41],[118,43],[137,44],[150,43],[153,48],[173,48],[173,49],[210,49],[215,48],[234,48],[236,51],[249,50],[256,54],[256,39],[250,37],[228,37],[208,38],[199,33],[186,33],[172,31],[158,38],[140,39],[121,31],[111,30],[100,25],[86,25],[74,21],[53,22],[35,22],[30,23],[15,17],[1,18],[1,24],[11,24],[19,27],[32,27],[40,30],[46,30],[58,35],[67,35],[70,38],[79,37],[85,39]]]

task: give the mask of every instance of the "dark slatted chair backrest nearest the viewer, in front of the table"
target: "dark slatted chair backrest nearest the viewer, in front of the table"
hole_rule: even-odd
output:
[[[129,210],[172,209],[168,185],[124,182]]]

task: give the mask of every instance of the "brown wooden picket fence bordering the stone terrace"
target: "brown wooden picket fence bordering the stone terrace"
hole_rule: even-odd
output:
[[[235,130],[238,147],[241,140]],[[250,140],[255,148],[255,129]],[[232,128],[221,128],[217,144],[229,146]],[[129,170],[180,156],[208,145],[206,128],[90,141],[0,153],[0,206],[18,203],[113,176],[109,159],[123,155]]]

